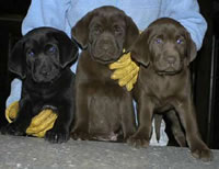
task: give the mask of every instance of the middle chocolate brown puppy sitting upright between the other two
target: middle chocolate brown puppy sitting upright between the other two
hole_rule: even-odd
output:
[[[116,61],[138,36],[132,20],[114,7],[89,12],[72,29],[84,49],[76,76],[74,139],[126,140],[135,132],[130,92],[111,79]]]

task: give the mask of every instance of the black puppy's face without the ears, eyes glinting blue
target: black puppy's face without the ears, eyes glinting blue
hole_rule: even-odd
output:
[[[43,42],[30,38],[24,48],[27,69],[35,82],[49,82],[60,75],[60,55],[54,38]]]

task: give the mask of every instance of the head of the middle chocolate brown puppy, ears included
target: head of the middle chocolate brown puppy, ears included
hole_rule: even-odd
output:
[[[101,64],[117,60],[123,48],[128,49],[137,36],[132,20],[114,7],[97,8],[72,27],[72,37]]]

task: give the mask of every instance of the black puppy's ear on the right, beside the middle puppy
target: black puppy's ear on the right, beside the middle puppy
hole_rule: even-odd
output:
[[[55,37],[58,41],[60,66],[65,68],[71,61],[77,60],[79,49],[77,44],[66,33],[55,33]]]

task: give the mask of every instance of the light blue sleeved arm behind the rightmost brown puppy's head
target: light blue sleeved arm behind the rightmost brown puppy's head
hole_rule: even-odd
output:
[[[185,26],[191,33],[197,50],[200,49],[207,23],[199,13],[197,0],[164,0],[161,4],[159,18],[163,16],[175,19]]]

